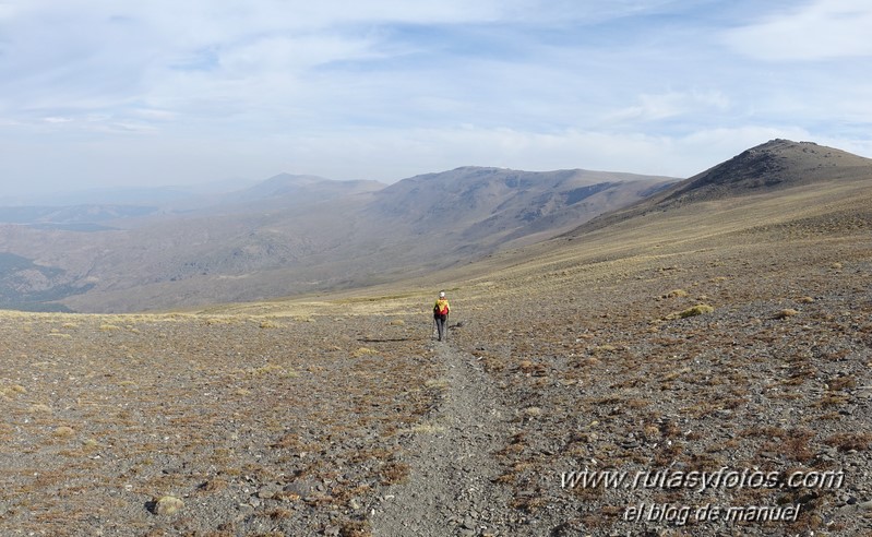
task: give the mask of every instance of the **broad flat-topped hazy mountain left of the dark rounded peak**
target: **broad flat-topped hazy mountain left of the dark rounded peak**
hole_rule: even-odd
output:
[[[673,182],[669,178],[588,170],[528,172],[465,167],[392,184],[369,210],[385,225],[401,224],[416,235],[435,226],[459,231],[452,243],[505,243],[539,231],[553,232],[585,222]]]

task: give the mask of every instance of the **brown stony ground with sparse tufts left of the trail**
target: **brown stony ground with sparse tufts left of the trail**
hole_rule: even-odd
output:
[[[441,391],[401,323],[4,314],[0,534],[369,535]]]

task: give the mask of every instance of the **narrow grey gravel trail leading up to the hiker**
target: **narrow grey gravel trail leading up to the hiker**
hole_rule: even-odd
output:
[[[500,517],[510,494],[492,480],[500,475],[493,452],[505,445],[510,416],[475,357],[439,343],[435,359],[444,370],[443,399],[432,427],[409,448],[407,481],[383,497],[373,535],[506,535]]]

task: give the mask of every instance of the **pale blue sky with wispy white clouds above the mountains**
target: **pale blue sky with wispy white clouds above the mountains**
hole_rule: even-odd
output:
[[[865,0],[0,0],[0,196],[872,156]]]

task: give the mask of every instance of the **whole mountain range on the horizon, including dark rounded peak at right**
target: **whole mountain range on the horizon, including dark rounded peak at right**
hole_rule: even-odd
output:
[[[872,160],[778,140],[683,181],[482,167],[391,186],[283,174],[165,203],[7,207],[0,306],[124,312],[354,288],[670,206],[858,174],[872,177]]]

